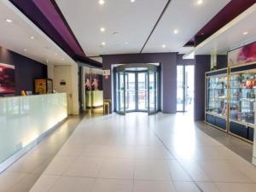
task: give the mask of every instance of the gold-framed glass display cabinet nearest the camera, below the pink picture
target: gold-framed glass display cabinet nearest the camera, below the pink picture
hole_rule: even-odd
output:
[[[253,142],[256,63],[230,67],[230,133]]]

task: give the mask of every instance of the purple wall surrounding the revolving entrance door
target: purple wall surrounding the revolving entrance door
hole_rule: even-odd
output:
[[[102,68],[111,69],[113,64],[160,63],[161,109],[163,113],[176,113],[177,53],[102,55]],[[103,79],[104,99],[112,98],[111,77]]]

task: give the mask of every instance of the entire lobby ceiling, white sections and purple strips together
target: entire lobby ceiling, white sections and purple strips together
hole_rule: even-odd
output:
[[[229,26],[225,33],[215,34],[252,8],[256,0],[243,0],[241,8],[235,9],[239,3],[240,0],[3,0],[0,24],[8,24],[8,28],[2,31],[0,44],[37,61],[66,61],[62,58],[66,55],[97,67],[101,63],[90,58],[99,55],[210,54],[212,49],[224,52],[255,37],[252,22],[246,18]],[[15,21],[7,23],[5,19],[12,16]],[[32,49],[34,43],[23,37],[31,27],[41,33],[38,37],[51,40],[61,50],[61,56],[50,55],[57,51],[38,37],[38,48]],[[241,37],[240,31],[246,30],[253,32]],[[207,34],[201,37],[204,32]],[[10,35],[15,37],[9,38]],[[39,48],[40,43],[43,49]],[[24,51],[24,47],[32,51]]]

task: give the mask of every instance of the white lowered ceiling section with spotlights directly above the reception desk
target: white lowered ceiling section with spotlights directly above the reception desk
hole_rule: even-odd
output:
[[[0,46],[46,64],[75,61],[9,2],[0,2]]]

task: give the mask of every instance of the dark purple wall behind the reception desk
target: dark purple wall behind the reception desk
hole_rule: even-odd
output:
[[[34,91],[34,79],[47,78],[47,66],[9,49],[0,47],[0,62],[15,66],[15,90],[20,95],[21,90]]]

